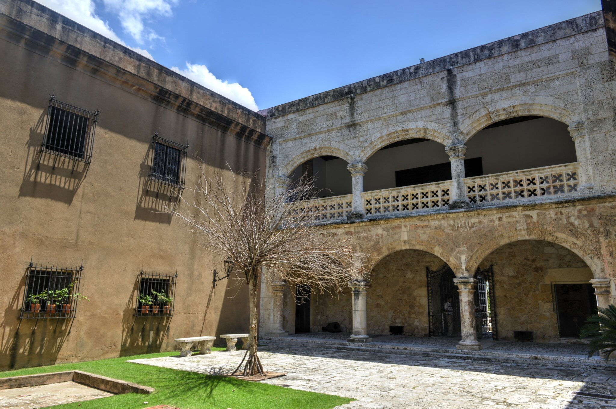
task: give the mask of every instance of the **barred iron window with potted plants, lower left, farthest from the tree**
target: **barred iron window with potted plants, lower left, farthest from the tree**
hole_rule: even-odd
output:
[[[30,261],[19,317],[75,318],[82,271],[83,265],[64,267]]]

